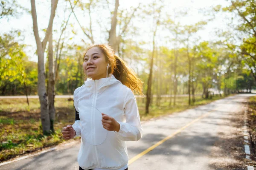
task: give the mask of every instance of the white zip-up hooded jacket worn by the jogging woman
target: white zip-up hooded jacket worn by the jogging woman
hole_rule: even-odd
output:
[[[80,120],[76,120],[73,128],[76,136],[81,136],[78,163],[85,170],[126,168],[125,141],[138,141],[143,136],[134,94],[110,75],[99,80],[87,79],[74,91],[74,105]],[[103,128],[100,112],[119,122],[119,132]]]

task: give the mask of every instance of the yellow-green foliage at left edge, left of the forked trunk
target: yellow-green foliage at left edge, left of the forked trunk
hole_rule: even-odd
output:
[[[15,35],[20,31],[3,34],[0,36],[0,87],[3,88],[2,95],[9,85],[20,85],[18,91],[24,94],[24,84],[27,87],[35,87],[37,84],[37,68],[35,62],[28,60],[23,51],[25,45],[15,41]]]

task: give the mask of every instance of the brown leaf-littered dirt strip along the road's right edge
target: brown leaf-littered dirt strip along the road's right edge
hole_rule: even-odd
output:
[[[246,107],[244,110],[247,109]],[[233,113],[229,126],[219,132],[220,140],[212,150],[211,165],[216,170],[247,170],[247,165],[256,166],[255,161],[245,159],[244,152],[244,112]],[[256,124],[255,124],[256,125]]]

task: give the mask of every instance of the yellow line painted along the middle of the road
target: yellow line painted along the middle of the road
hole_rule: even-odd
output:
[[[218,107],[220,108],[220,107]],[[212,110],[212,111],[216,111],[218,108]],[[148,147],[148,149],[144,150],[143,152],[139,153],[137,156],[134,156],[132,159],[129,160],[128,164],[133,163],[134,161],[136,161],[137,159],[139,159],[140,157],[142,157],[143,155],[147,154],[148,152],[150,152],[151,150],[153,150],[154,148],[156,148],[157,146],[159,146],[160,144],[162,144],[163,142],[166,142],[166,140],[171,139],[173,136],[177,135],[178,133],[180,133],[182,130],[186,129],[187,127],[189,127],[190,125],[192,125],[193,123],[197,122],[200,119],[203,119],[204,117],[208,116],[212,111],[209,111],[208,113],[198,117],[197,119],[193,120],[192,122],[190,122],[189,124],[187,124],[186,126],[181,127],[179,130],[177,130],[175,133],[172,133],[170,136],[167,136],[165,139],[157,142],[156,144],[152,145],[151,147]]]

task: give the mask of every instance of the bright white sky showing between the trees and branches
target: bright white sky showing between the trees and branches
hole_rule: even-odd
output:
[[[82,2],[86,2],[85,0],[81,0]],[[112,4],[114,4],[114,0],[110,0]],[[120,0],[119,1],[119,9],[122,8],[129,8],[131,6],[138,6],[138,3],[142,2],[143,4],[148,3],[149,1],[145,0]],[[26,8],[31,9],[30,0],[19,0],[19,3],[25,6]],[[54,20],[54,28],[56,32],[53,34],[53,38],[55,40],[58,39],[60,34],[60,26],[61,22],[65,19],[67,19],[67,16],[69,15],[69,12],[64,13],[64,9],[67,2],[64,2],[64,0],[59,0],[58,8],[57,8],[57,14],[55,15]],[[186,17],[180,18],[179,21],[182,25],[189,25],[197,23],[198,21],[205,20],[206,16],[204,14],[201,14],[198,12],[199,8],[210,8],[211,6],[216,6],[218,4],[222,6],[226,6],[228,4],[227,1],[224,0],[164,0],[165,7],[162,11],[162,17],[165,17],[165,15],[168,13],[170,15],[173,15],[174,9],[176,11],[186,8],[189,9],[189,13]],[[114,6],[112,6],[113,9]],[[50,0],[36,0],[36,8],[37,8],[37,14],[38,14],[38,27],[40,30],[47,28],[48,22],[49,22],[49,15],[50,15]],[[79,18],[80,23],[86,27],[89,24],[89,17],[87,14],[87,11],[81,12],[81,10],[77,10],[75,8],[75,12],[77,17]],[[207,26],[205,26],[204,30],[201,30],[198,32],[197,37],[200,36],[201,40],[214,40],[215,39],[215,28],[223,28],[227,29],[226,23],[224,21],[223,14],[216,14],[215,20],[208,23]],[[96,43],[105,43],[106,42],[106,36],[105,28],[100,28],[99,24],[97,23],[97,20],[101,20],[102,25],[107,26],[109,29],[111,26],[110,20],[106,18],[110,17],[110,12],[105,9],[101,11],[95,11],[92,15],[93,19],[93,36],[96,41]],[[90,42],[88,38],[82,33],[81,28],[79,27],[79,24],[76,22],[75,17],[71,16],[70,22],[73,24],[73,29],[77,32],[77,35],[74,35],[71,33],[71,28],[67,29],[65,31],[65,36],[72,37],[73,41],[81,42],[81,38],[86,40],[87,42]],[[147,42],[152,41],[152,32],[151,28],[153,26],[152,22],[148,21],[147,23],[141,22],[140,19],[134,19],[133,24],[140,28],[139,34],[136,38],[138,41],[144,40]],[[31,14],[25,13],[21,16],[18,16],[17,18],[10,18],[9,20],[1,19],[0,20],[0,34],[3,34],[5,32],[9,32],[11,30],[19,29],[21,33],[25,36],[25,39],[23,43],[27,44],[26,53],[29,55],[30,59],[33,61],[38,61],[37,56],[35,55],[36,50],[36,44],[35,44],[35,37],[33,34],[32,29],[32,16]],[[44,36],[44,32],[40,31],[41,39]],[[168,31],[159,30],[158,31],[158,37],[157,37],[157,44],[158,45],[168,45],[171,46],[171,44],[168,44],[169,42],[166,42],[165,37],[166,36],[172,36]],[[83,44],[81,42],[81,44]]]

